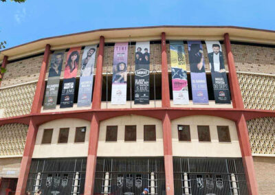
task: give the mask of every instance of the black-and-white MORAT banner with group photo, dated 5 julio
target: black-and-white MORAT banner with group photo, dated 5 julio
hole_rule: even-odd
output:
[[[149,104],[150,42],[135,45],[135,104]]]

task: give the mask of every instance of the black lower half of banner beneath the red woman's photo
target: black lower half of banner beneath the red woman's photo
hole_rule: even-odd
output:
[[[61,93],[61,108],[74,106],[74,89],[76,88],[76,78],[67,78],[63,81]]]

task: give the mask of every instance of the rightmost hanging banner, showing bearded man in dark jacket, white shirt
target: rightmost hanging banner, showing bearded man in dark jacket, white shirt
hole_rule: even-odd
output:
[[[211,68],[215,102],[217,104],[231,104],[221,44],[219,41],[206,41],[206,47]]]

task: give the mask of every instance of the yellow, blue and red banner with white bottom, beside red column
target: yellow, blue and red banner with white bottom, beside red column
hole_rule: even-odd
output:
[[[174,104],[189,104],[186,61],[183,41],[170,41]]]

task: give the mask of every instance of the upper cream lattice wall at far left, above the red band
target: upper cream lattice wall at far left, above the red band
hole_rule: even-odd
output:
[[[36,82],[0,89],[0,110],[3,109],[2,117],[28,115],[32,108],[35,89]]]

